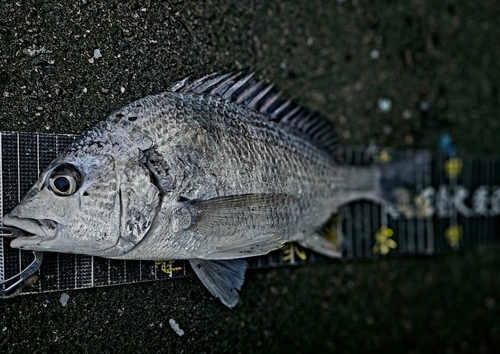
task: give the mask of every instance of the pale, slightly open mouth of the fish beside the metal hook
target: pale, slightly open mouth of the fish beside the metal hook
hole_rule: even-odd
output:
[[[11,214],[3,217],[3,224],[26,231],[26,235],[19,236],[10,242],[12,248],[40,245],[41,242],[56,237],[59,229],[58,223],[54,220],[21,218]]]

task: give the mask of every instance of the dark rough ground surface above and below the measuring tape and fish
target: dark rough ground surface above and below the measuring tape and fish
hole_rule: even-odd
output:
[[[348,144],[436,148],[448,131],[500,151],[500,6],[385,3],[4,0],[0,130],[78,133],[184,76],[246,69]],[[2,300],[0,351],[494,353],[497,252],[250,271],[234,310],[194,278]]]

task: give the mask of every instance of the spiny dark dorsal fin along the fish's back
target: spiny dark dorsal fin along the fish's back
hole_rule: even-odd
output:
[[[262,113],[269,120],[293,128],[297,134],[339,160],[340,139],[331,120],[283,97],[274,85],[264,80],[257,82],[254,73],[213,73],[197,80],[178,81],[168,88],[170,92],[196,92],[219,96]]]

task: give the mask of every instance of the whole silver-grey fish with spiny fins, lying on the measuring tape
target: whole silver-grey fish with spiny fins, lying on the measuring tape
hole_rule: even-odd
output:
[[[85,131],[3,217],[25,233],[11,247],[186,259],[230,308],[245,258],[289,242],[339,258],[319,230],[352,201],[391,203],[408,163],[345,163],[329,118],[253,75],[186,78]]]

